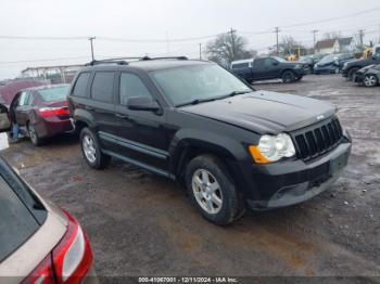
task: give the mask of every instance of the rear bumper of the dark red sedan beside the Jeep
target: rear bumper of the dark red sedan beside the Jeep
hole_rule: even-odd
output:
[[[39,138],[49,138],[59,133],[73,131],[73,125],[69,119],[61,120],[59,118],[41,119],[34,125]]]

